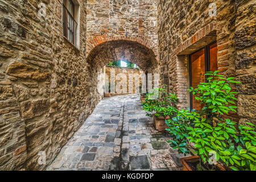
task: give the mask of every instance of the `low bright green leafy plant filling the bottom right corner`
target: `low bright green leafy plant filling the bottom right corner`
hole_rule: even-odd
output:
[[[196,125],[188,127],[187,137],[196,144],[195,152],[204,163],[212,158],[210,152],[216,156],[216,162],[221,159],[233,170],[255,170],[255,125],[239,125],[240,130],[237,130],[236,122],[230,119],[217,123],[217,126],[210,126],[205,121],[205,118],[194,121]]]

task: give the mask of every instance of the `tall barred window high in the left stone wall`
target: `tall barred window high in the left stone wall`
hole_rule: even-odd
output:
[[[79,33],[79,23],[77,23],[76,17],[79,11],[75,4],[71,0],[63,0],[63,34],[65,38],[69,40],[73,45],[79,48],[78,33]]]

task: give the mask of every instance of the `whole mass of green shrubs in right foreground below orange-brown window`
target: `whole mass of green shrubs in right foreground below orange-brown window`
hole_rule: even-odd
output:
[[[189,153],[189,142],[195,143],[195,152],[203,163],[222,163],[233,170],[256,170],[255,125],[237,125],[230,119],[222,119],[229,111],[236,112],[235,94],[230,83],[234,77],[225,78],[216,72],[207,72],[208,82],[200,83],[195,89],[196,100],[204,105],[202,110],[176,111],[176,115],[166,121],[167,131],[172,135],[170,146],[179,153]],[[199,167],[202,168],[202,167]]]

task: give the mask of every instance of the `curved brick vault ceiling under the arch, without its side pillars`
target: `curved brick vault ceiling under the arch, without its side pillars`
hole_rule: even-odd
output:
[[[96,46],[87,60],[99,69],[112,61],[127,60],[146,70],[156,63],[156,55],[152,49],[138,42],[112,40]]]

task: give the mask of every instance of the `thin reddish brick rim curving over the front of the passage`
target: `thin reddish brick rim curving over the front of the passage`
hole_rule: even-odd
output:
[[[158,45],[155,44],[153,41],[147,39],[144,36],[138,36],[138,38],[134,38],[133,36],[122,36],[122,35],[115,35],[115,36],[109,36],[107,34],[98,35],[93,38],[89,38],[86,45],[86,57],[89,56],[90,52],[97,47],[99,44],[113,41],[113,40],[128,40],[137,42],[139,44],[142,44],[143,46],[152,49],[152,51],[156,55],[156,59],[158,60]]]

